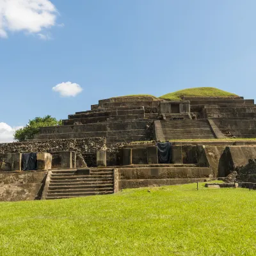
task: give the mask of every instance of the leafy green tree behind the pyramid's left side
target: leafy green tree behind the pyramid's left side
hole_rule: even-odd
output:
[[[29,120],[29,123],[25,127],[15,131],[14,140],[33,140],[35,134],[40,132],[40,127],[61,125],[61,122],[61,120],[58,121],[56,118],[49,115],[44,117],[36,117],[33,120]]]

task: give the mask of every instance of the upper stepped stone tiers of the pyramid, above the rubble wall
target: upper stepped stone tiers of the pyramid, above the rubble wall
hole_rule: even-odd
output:
[[[107,143],[129,143],[223,136],[255,138],[256,106],[253,99],[184,97],[180,102],[184,105],[150,96],[99,100],[99,104],[92,105],[89,111],[68,115],[63,125],[42,127],[35,140],[104,137]],[[190,102],[190,110],[187,102]],[[154,124],[159,119],[160,129]],[[156,130],[161,131],[162,136],[157,136]]]

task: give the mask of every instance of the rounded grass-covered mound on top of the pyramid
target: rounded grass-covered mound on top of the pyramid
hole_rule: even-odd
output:
[[[161,99],[180,100],[182,97],[239,97],[238,95],[213,87],[196,87],[167,93]]]

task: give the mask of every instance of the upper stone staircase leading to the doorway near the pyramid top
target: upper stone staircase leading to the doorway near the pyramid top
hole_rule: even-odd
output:
[[[161,121],[165,140],[210,140],[215,139],[208,120]]]

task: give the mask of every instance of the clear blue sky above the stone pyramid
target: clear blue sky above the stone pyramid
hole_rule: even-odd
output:
[[[255,98],[255,0],[9,2],[0,0],[0,141],[7,126],[10,135],[117,95],[214,86]],[[52,90],[68,81],[83,91]]]

